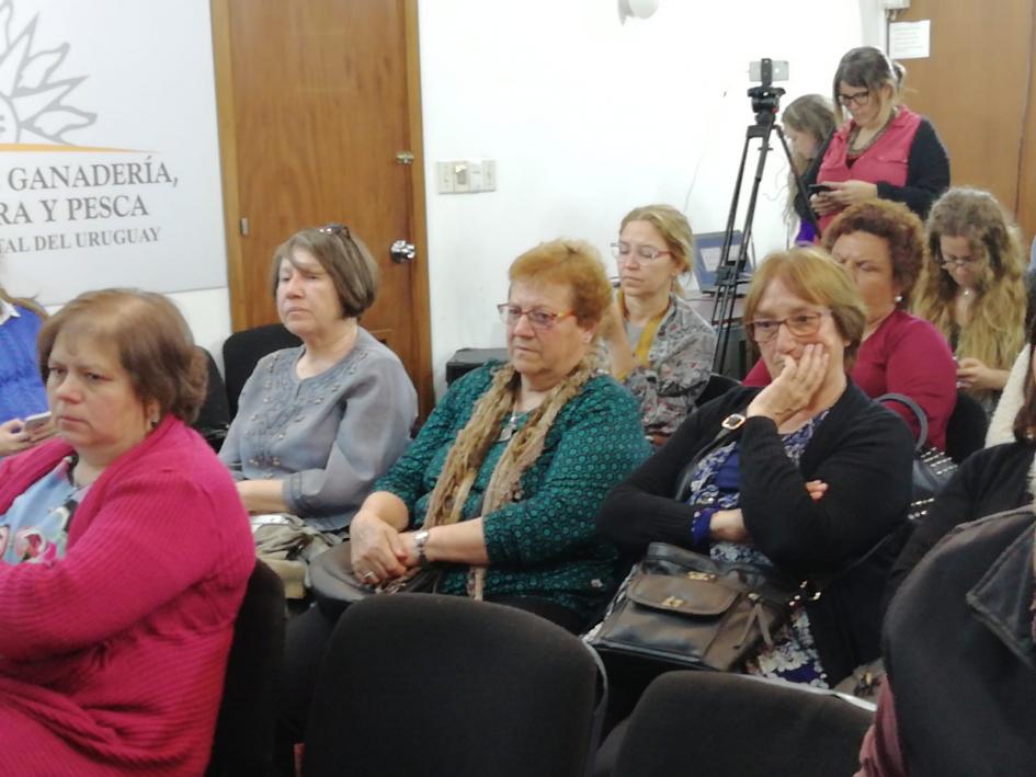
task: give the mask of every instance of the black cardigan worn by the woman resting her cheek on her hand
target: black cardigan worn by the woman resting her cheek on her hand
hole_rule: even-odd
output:
[[[807,468],[804,455],[802,470],[788,458],[770,419],[749,419],[740,430],[745,528],[771,561],[796,575],[838,571],[906,515],[910,431],[899,416],[853,391],[866,409],[839,418],[832,408],[832,416],[807,447],[815,464]],[[676,481],[715,437],[719,422],[743,411],[755,392],[729,391],[685,421],[661,450],[607,495],[597,516],[601,533],[626,551],[641,552],[652,541],[691,547],[694,507],[673,499]],[[828,483],[819,502],[806,491],[806,481],[813,479]]]

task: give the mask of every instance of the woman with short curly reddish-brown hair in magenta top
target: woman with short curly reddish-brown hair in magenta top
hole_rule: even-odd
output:
[[[907,206],[870,199],[845,208],[823,233],[823,247],[859,289],[867,324],[850,376],[868,397],[902,393],[924,411],[929,445],[946,446],[946,423],[957,401],[953,354],[927,321],[907,312],[907,300],[924,264],[921,220]],[[771,376],[761,361],[744,379],[764,386]],[[918,434],[913,413],[899,413]]]

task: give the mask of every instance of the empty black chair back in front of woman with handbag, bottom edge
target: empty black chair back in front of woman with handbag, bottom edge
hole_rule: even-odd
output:
[[[669,672],[637,704],[612,775],[851,775],[872,718],[864,702],[788,683]]]

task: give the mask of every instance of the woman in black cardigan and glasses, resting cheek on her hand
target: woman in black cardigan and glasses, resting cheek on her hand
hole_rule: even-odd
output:
[[[904,521],[911,436],[846,377],[864,310],[827,254],[797,248],[770,256],[752,281],[744,320],[778,377],[702,407],[610,493],[599,528],[630,553],[665,541],[822,581]],[[682,470],[724,427],[732,438],[698,461],[690,498],[675,501]],[[833,686],[877,658],[890,562],[891,550],[874,553],[838,576],[745,671]]]

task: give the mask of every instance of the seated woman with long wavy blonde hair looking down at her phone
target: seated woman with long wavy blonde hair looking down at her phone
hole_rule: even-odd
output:
[[[956,187],[932,206],[927,243],[913,309],[949,342],[960,386],[991,410],[1025,340],[1017,229],[992,194]]]

